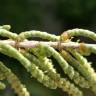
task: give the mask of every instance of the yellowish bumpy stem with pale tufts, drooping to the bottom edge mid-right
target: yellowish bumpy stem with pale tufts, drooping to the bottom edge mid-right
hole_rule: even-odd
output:
[[[56,70],[53,69],[52,64],[48,62],[47,57],[37,59],[35,56],[28,52],[24,52],[21,50],[21,53],[31,62],[38,65],[40,69],[42,69],[44,73],[47,73],[50,78],[54,79],[58,87],[62,88],[63,91],[68,92],[68,94],[72,96],[83,96],[82,92],[73,83],[71,83],[69,80],[60,77]]]

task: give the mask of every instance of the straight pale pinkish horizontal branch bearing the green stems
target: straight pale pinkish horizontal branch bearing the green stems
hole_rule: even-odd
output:
[[[22,42],[16,42],[13,40],[0,40],[0,43],[5,43],[5,44],[9,44],[11,46],[16,46],[16,47],[23,47],[23,48],[34,48],[36,47],[38,44],[44,44],[44,45],[49,45],[53,48],[58,49],[58,42],[51,42],[51,41],[22,41]],[[77,42],[65,42],[65,43],[61,43],[61,48],[79,48],[81,43],[77,43]],[[90,48],[90,47],[96,47],[96,44],[84,44],[86,47]]]

